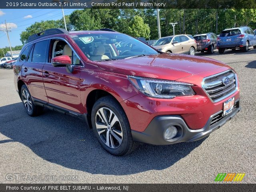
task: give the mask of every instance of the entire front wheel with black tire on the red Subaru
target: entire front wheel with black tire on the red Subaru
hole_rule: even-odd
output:
[[[91,120],[98,142],[110,154],[124,156],[138,146],[132,139],[130,124],[123,108],[112,96],[102,97],[95,102]]]

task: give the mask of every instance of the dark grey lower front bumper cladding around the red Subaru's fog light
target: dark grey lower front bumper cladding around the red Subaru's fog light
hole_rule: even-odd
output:
[[[206,125],[197,130],[188,128],[181,116],[176,115],[164,115],[156,116],[148,125],[144,132],[137,132],[132,130],[132,137],[134,141],[143,142],[154,145],[168,145],[179,142],[192,142],[200,140],[208,136],[211,132],[217,130],[232,117],[234,117],[240,111],[239,100],[236,100],[232,112],[226,116],[220,114],[223,111],[219,111],[210,116]],[[212,123],[214,121],[214,123]],[[164,139],[164,132],[170,126],[175,126],[178,130],[178,134],[170,139]]]

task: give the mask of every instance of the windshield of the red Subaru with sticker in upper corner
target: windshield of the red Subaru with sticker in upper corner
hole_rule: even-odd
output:
[[[159,54],[140,40],[119,33],[71,35],[84,54],[92,61],[119,60]]]

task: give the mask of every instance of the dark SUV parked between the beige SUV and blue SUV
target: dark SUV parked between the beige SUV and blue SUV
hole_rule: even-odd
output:
[[[207,51],[210,54],[214,53],[214,49],[217,48],[217,35],[210,32],[206,34],[195,35],[197,51],[202,53]]]

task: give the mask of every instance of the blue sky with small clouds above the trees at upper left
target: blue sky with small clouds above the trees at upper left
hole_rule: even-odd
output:
[[[75,9],[64,9],[64,14],[71,14]],[[58,20],[62,18],[61,9],[0,9],[0,30],[7,27],[11,28],[9,32],[11,46],[22,45],[20,33],[35,22],[42,20]],[[4,24],[4,25],[3,25]],[[9,46],[6,33],[0,31],[0,48]]]

